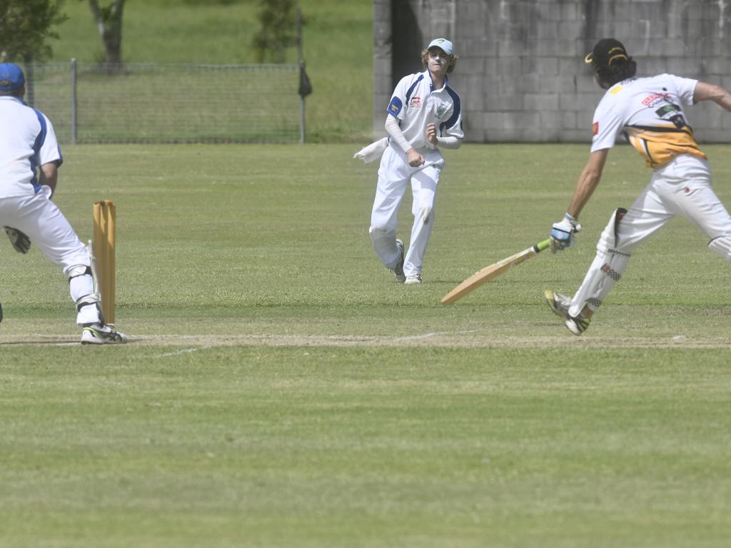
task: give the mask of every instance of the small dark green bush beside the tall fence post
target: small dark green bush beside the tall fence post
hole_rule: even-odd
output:
[[[297,44],[295,0],[260,0],[261,27],[252,46],[257,62],[284,63],[287,47]]]

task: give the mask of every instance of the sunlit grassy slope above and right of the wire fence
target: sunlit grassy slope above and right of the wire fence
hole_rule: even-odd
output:
[[[306,20],[304,56],[314,87],[306,99],[307,142],[371,142],[371,1],[300,0],[298,4]],[[54,61],[103,60],[88,4],[72,1],[66,11],[69,20],[59,29]],[[225,6],[214,1],[135,1],[124,12],[124,62],[251,64],[255,61],[251,39],[260,28],[257,15],[254,0]],[[296,48],[289,47],[286,53],[287,63],[295,64]],[[219,93],[235,91],[211,88],[211,96]]]

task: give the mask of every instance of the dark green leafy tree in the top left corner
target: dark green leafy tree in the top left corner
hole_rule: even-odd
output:
[[[0,58],[6,61],[45,61],[58,39],[53,26],[63,23],[64,0],[0,0]]]

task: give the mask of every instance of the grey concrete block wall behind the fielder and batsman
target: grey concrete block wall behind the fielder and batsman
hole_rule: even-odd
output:
[[[402,19],[393,28],[398,9],[417,28]],[[404,33],[412,39],[394,39]],[[624,43],[639,76],[670,72],[731,89],[731,0],[374,0],[376,136],[394,83],[421,70],[420,47],[393,50],[413,37],[421,47],[433,37],[455,43],[450,84],[471,142],[589,142],[604,91],[583,58],[604,37]],[[404,58],[414,58],[409,70]],[[731,142],[731,113],[718,105],[688,116],[700,142]]]

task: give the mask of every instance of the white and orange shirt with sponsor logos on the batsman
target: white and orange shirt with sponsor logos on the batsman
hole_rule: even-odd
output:
[[[624,130],[648,167],[662,167],[680,154],[705,159],[683,111],[693,104],[697,83],[664,74],[613,85],[594,112],[591,151],[613,147]]]

